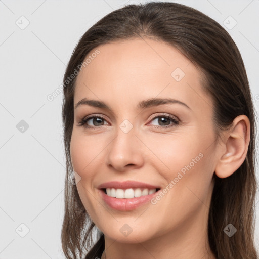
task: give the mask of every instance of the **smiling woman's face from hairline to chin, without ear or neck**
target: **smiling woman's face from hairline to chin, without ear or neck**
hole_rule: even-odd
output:
[[[74,94],[74,107],[95,101],[74,108],[70,145],[85,209],[105,236],[124,243],[203,234],[219,155],[199,71],[162,41],[117,41],[98,50],[89,53]],[[139,183],[107,184],[113,181]],[[101,187],[115,187],[109,195],[116,197]]]

